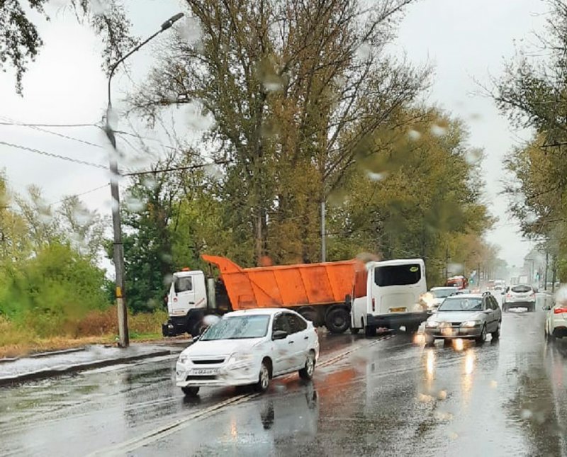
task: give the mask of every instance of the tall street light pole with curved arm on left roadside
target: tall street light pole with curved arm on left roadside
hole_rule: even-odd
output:
[[[172,16],[167,21],[162,23],[162,27],[154,33],[150,38],[142,41],[139,45],[134,47],[130,50],[127,54],[121,57],[118,62],[113,64],[108,72],[108,106],[106,108],[106,121],[104,126],[104,131],[106,132],[106,136],[108,140],[111,142],[112,145],[112,153],[110,154],[109,158],[109,169],[111,171],[111,197],[112,197],[112,228],[113,228],[113,235],[114,235],[114,249],[113,249],[113,261],[114,261],[114,268],[116,270],[116,306],[118,308],[118,336],[120,338],[119,345],[120,347],[128,347],[130,344],[129,337],[128,337],[128,308],[126,308],[126,300],[125,300],[125,288],[124,288],[124,247],[122,244],[122,227],[120,222],[120,188],[118,187],[118,176],[120,176],[120,172],[118,171],[118,158],[117,158],[117,149],[116,149],[116,136],[114,135],[114,130],[111,125],[111,115],[112,115],[112,100],[111,100],[111,81],[113,74],[118,67],[119,64],[124,62],[130,55],[133,55],[134,52],[140,49],[143,45],[150,42],[153,38],[155,38],[159,33],[162,33],[164,30],[167,30],[176,21],[179,21],[184,16],[183,13],[177,13],[175,16]]]

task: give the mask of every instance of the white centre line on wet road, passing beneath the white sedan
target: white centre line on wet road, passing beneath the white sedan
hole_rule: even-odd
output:
[[[321,363],[318,363],[318,367],[325,367],[325,366],[330,366],[332,365],[332,363],[335,363],[341,359],[344,359],[344,357],[349,356],[350,354],[358,351],[359,349],[364,349],[370,346],[374,346],[374,344],[378,344],[379,342],[383,342],[386,339],[391,339],[393,338],[395,335],[394,334],[388,334],[385,335],[383,337],[378,337],[378,339],[375,339],[373,341],[371,341],[368,344],[360,344],[355,346],[352,349],[349,349],[347,351],[343,351],[335,356],[330,357],[330,359],[326,359],[325,361],[322,361]],[[368,340],[364,340],[364,341],[368,341]],[[278,379],[280,380],[286,380],[286,379],[291,379],[296,377],[296,373],[293,373],[291,375],[288,376],[281,376]],[[260,393],[248,393],[248,394],[242,394],[242,395],[237,395],[236,397],[231,397],[227,400],[224,400],[222,402],[216,403],[215,405],[211,405],[210,407],[195,412],[194,414],[191,414],[188,417],[184,417],[184,419],[178,419],[174,422],[170,422],[169,424],[166,424],[162,427],[158,427],[157,429],[154,429],[152,431],[148,431],[145,434],[142,434],[140,436],[137,436],[133,439],[130,439],[128,441],[123,441],[122,443],[118,443],[114,446],[108,446],[106,448],[100,449],[99,451],[94,451],[93,453],[89,454],[89,457],[97,457],[97,456],[116,456],[116,455],[124,455],[125,453],[129,453],[129,452],[133,452],[138,448],[141,448],[143,446],[147,446],[149,444],[155,443],[155,441],[159,441],[160,439],[165,438],[166,436],[169,436],[171,434],[176,433],[176,431],[179,431],[181,429],[184,429],[185,427],[189,427],[189,425],[191,425],[191,422],[195,419],[202,419],[205,417],[209,417],[212,416],[213,414],[215,414],[216,412],[218,412],[219,410],[223,410],[225,407],[228,407],[230,405],[240,405],[244,402],[248,402],[249,400],[253,400],[254,398],[259,397]]]

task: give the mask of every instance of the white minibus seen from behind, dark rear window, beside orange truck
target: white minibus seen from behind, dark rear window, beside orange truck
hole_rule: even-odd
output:
[[[422,259],[396,259],[366,264],[366,296],[352,302],[351,329],[366,336],[378,327],[415,332],[427,319],[425,263]]]

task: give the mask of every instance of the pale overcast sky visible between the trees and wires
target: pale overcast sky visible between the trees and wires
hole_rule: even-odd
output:
[[[72,14],[61,10],[64,0],[54,3],[58,6],[50,7],[52,21],[38,21],[45,47],[24,77],[24,96],[16,95],[13,74],[0,73],[0,122],[90,124],[101,120],[106,107],[106,78],[100,69],[99,40],[89,28],[78,24]],[[136,0],[135,8],[132,0],[125,3],[130,6],[134,33],[140,36],[150,35],[165,19],[180,11],[180,2],[176,0]],[[410,61],[434,65],[434,82],[427,101],[463,119],[471,134],[470,145],[484,149],[487,203],[500,219],[488,239],[500,245],[501,256],[510,265],[522,262],[529,244],[522,242],[517,225],[506,214],[506,198],[500,195],[501,181],[506,178],[503,157],[529,133],[513,130],[490,99],[478,96],[474,79],[488,84],[490,74],[501,74],[503,61],[514,55],[514,40],[520,42],[529,38],[532,30],[541,30],[544,22],[541,13],[545,9],[541,0],[421,0],[408,8],[396,42]],[[143,80],[151,63],[151,48],[130,58],[129,74],[120,72],[115,79],[115,105],[133,84]],[[193,121],[191,116],[186,113],[186,120]],[[130,126],[121,123],[120,128],[129,130]],[[0,142],[102,166],[108,163],[108,144],[98,128],[46,129],[100,147],[10,125],[0,125]],[[165,141],[152,132],[143,134]],[[158,141],[154,143],[160,147]],[[125,142],[121,145],[129,148]],[[140,168],[143,162],[130,165]],[[105,169],[63,162],[0,144],[1,168],[6,169],[15,191],[38,184],[49,203],[69,194],[91,191],[82,199],[102,213],[110,211],[109,191],[104,187],[108,183]]]

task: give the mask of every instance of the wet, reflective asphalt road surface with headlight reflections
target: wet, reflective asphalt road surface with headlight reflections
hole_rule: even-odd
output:
[[[322,335],[313,383],[202,389],[174,359],[0,389],[0,455],[567,456],[567,341],[544,312],[504,315],[500,342],[432,349]]]

